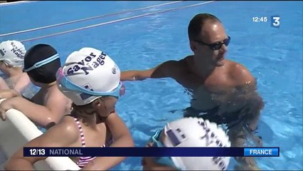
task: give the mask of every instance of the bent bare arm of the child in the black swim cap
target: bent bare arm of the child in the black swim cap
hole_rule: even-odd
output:
[[[59,97],[58,97],[59,98]],[[4,100],[0,107],[6,112],[11,108],[21,111],[30,120],[46,127],[48,123],[58,123],[65,113],[65,99],[49,99],[46,105],[38,105],[22,97]],[[64,105],[63,105],[64,104]]]

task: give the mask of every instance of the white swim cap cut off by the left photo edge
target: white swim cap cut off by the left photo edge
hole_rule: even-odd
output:
[[[10,66],[23,66],[26,48],[19,41],[4,41],[0,43],[0,61]]]

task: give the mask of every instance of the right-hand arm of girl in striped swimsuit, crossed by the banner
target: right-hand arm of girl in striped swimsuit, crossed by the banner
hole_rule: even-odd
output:
[[[132,135],[123,120],[119,118],[117,113],[111,113],[105,121],[110,129],[114,142],[110,147],[134,147]],[[83,170],[110,170],[110,168],[118,165],[125,157],[96,157],[95,160],[89,162]]]

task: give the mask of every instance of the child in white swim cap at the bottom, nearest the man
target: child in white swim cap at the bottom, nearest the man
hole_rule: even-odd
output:
[[[230,147],[230,141],[216,123],[182,118],[157,130],[147,147]],[[230,157],[143,157],[142,166],[143,170],[227,170],[229,161]]]

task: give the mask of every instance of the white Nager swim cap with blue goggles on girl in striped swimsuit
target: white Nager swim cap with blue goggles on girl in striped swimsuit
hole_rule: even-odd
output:
[[[57,81],[58,88],[75,105],[86,105],[121,90],[119,67],[110,56],[95,48],[71,53],[59,69]]]

